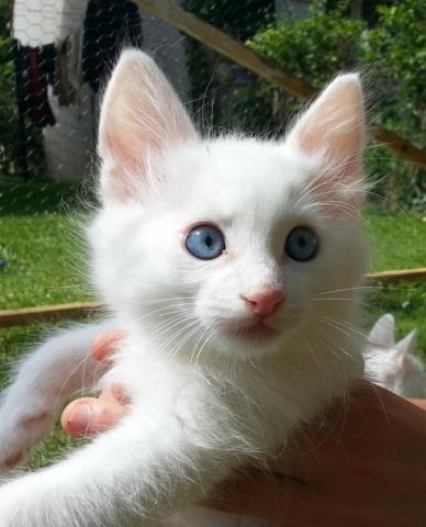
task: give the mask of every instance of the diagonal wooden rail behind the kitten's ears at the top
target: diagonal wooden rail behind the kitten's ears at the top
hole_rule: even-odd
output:
[[[144,12],[157,16],[215,52],[254,71],[259,77],[279,86],[288,93],[306,99],[316,90],[302,79],[285,74],[273,64],[265,60],[247,46],[226,33],[189,13],[172,0],[133,0]],[[372,137],[392,149],[399,156],[426,167],[426,153],[380,126],[370,130]]]

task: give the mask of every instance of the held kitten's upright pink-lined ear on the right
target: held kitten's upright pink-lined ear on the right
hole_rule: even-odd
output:
[[[328,187],[355,187],[362,179],[366,136],[363,97],[359,75],[338,76],[295,123],[287,143],[321,160]],[[326,189],[327,183],[322,187]],[[329,189],[335,190],[335,189]],[[354,189],[348,201],[359,205],[363,192]]]

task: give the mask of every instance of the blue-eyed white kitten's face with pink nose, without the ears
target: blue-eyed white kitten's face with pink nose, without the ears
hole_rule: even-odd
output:
[[[147,206],[101,216],[98,271],[109,302],[170,339],[167,351],[187,344],[198,352],[209,339],[209,349],[249,357],[295,332],[320,338],[322,316],[346,307],[322,293],[357,287],[365,251],[356,222],[321,201],[317,167],[281,144],[226,139],[180,147],[164,168]],[[257,309],[250,299],[260,299]]]

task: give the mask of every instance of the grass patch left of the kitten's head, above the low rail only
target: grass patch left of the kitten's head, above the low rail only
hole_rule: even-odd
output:
[[[79,188],[0,180],[0,310],[88,299],[72,226]]]

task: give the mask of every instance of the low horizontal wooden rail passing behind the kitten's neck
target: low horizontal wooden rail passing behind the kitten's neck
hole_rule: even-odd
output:
[[[426,280],[426,268],[371,272],[366,274],[366,282],[371,284],[379,283],[385,285],[403,280]],[[76,302],[71,304],[0,311],[0,329],[12,326],[27,326],[40,322],[82,318],[90,314],[101,312],[102,309],[102,304],[97,302]]]

